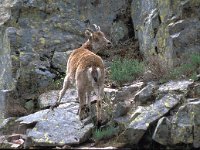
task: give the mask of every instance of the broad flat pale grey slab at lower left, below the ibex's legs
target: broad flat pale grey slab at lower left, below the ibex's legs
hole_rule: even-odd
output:
[[[90,123],[84,126],[77,111],[78,104],[71,102],[60,105],[54,111],[41,110],[17,119],[20,124],[35,124],[32,129],[27,130],[26,145],[74,145],[87,141],[94,125]]]

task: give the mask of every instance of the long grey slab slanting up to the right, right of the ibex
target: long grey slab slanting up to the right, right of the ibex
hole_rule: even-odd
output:
[[[177,105],[180,100],[181,95],[167,94],[150,106],[144,107],[141,114],[130,119],[119,139],[131,144],[137,144],[148,127]]]

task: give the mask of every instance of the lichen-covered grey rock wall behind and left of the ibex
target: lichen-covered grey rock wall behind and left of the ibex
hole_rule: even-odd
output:
[[[119,37],[114,39],[118,42],[128,38],[130,25],[119,17],[123,18],[130,3],[127,0],[117,3],[106,0],[3,1],[0,87],[10,86],[15,79],[22,104],[37,99],[65,73],[69,51],[87,40],[84,30],[88,22],[99,25],[108,39],[116,37],[116,30],[123,25],[117,34]],[[125,18],[130,22],[130,15]],[[114,29],[112,34],[111,28]],[[3,85],[4,82],[9,85]]]

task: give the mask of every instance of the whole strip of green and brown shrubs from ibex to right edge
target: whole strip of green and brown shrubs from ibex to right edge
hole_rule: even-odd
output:
[[[150,70],[152,76],[143,76],[145,80],[157,79],[160,82],[183,78],[196,80],[200,71],[200,53],[185,54],[180,60],[176,67],[170,68],[159,56],[149,57],[146,62],[115,58],[110,67],[110,78],[122,85],[135,80],[146,69]]]

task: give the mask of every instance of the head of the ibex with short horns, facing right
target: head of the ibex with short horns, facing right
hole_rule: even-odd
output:
[[[96,31],[93,31],[89,28],[85,30],[85,35],[89,39],[93,51],[98,52],[101,49],[110,48],[112,46],[112,43],[108,39],[106,39],[104,33],[101,31],[99,26],[97,26],[96,24],[93,25]]]

